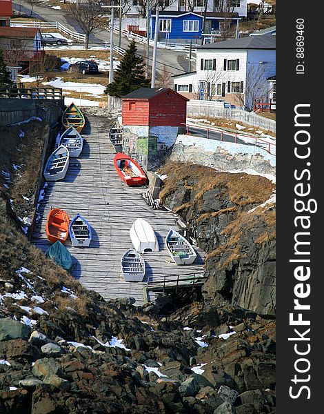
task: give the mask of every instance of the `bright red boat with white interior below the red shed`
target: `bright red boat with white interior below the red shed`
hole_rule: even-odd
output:
[[[143,186],[147,180],[139,164],[121,152],[117,152],[114,157],[114,168],[116,168],[119,176],[128,186]]]

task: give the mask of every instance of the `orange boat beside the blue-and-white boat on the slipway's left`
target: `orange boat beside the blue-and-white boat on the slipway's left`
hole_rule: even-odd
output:
[[[52,208],[46,221],[46,234],[51,243],[65,243],[69,235],[69,216],[60,208]]]

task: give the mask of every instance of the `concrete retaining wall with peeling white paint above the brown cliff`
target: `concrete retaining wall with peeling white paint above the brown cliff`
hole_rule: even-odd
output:
[[[170,159],[222,171],[250,168],[261,174],[276,175],[276,157],[263,148],[190,135],[177,137]]]

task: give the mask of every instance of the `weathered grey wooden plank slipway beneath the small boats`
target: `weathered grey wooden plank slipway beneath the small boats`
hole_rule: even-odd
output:
[[[176,266],[165,248],[170,227],[176,228],[175,217],[165,210],[154,210],[143,199],[145,187],[129,187],[114,169],[116,154],[108,137],[107,118],[88,117],[82,135],[83,151],[71,159],[68,172],[61,181],[50,182],[38,208],[39,219],[34,226],[32,243],[45,251],[50,242],[45,233],[50,208],[63,208],[72,219],[80,213],[92,228],[88,248],[72,247],[65,243],[74,264],[72,275],[85,286],[96,290],[104,299],[134,297],[136,305],[144,303],[143,287],[150,280],[167,275],[188,275],[203,271],[203,252],[198,250],[196,262]],[[148,221],[156,232],[161,251],[145,253],[146,273],[143,282],[125,282],[121,273],[121,257],[132,248],[130,227],[138,217]],[[183,277],[183,276],[182,276]],[[154,301],[155,293],[149,294]]]

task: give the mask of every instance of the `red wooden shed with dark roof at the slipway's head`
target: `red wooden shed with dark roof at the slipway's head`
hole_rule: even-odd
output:
[[[187,117],[188,98],[169,88],[139,88],[125,95],[123,125],[181,126]]]

